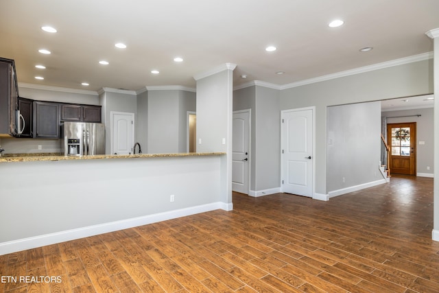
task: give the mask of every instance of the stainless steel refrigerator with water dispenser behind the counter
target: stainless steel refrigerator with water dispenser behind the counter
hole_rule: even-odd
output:
[[[65,156],[105,154],[105,126],[100,123],[64,122],[62,152]]]

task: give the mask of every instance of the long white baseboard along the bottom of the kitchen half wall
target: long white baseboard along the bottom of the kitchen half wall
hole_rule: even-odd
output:
[[[231,211],[233,209],[232,203],[213,202],[211,204],[202,204],[196,207],[189,207],[186,209],[177,209],[175,211],[167,211],[164,213],[155,213],[153,215],[145,215],[138,218],[131,218],[93,226],[86,226],[82,228],[75,228],[67,231],[39,235],[35,237],[28,237],[24,239],[13,240],[10,242],[0,243],[0,255],[8,253],[16,253],[17,251],[27,250],[40,246],[66,242],[74,239],[80,239],[93,235],[119,231],[126,228],[152,224],[165,220],[185,217],[187,215],[195,215],[196,213],[204,213],[206,211],[213,211],[215,209],[223,209]]]

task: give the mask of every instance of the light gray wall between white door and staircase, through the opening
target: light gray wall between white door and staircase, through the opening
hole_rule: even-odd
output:
[[[331,106],[327,117],[327,193],[382,180],[381,103]]]

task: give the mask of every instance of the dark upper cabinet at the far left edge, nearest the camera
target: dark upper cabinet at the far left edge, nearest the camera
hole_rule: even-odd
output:
[[[0,137],[16,135],[18,97],[14,60],[0,58]]]

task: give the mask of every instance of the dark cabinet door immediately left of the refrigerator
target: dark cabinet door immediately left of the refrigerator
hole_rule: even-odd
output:
[[[42,139],[60,137],[59,104],[34,102],[34,137]]]

